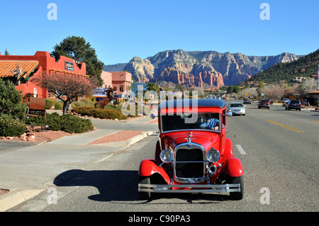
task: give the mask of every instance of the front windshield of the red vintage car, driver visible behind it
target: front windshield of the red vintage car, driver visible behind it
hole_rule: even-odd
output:
[[[191,113],[162,115],[162,131],[172,130],[217,130],[219,131],[218,113]]]

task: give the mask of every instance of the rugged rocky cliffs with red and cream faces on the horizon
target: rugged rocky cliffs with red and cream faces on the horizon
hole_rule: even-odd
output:
[[[172,81],[206,88],[239,84],[274,64],[297,59],[291,53],[257,57],[230,52],[167,50],[145,60],[133,57],[124,70],[131,72],[137,82]]]

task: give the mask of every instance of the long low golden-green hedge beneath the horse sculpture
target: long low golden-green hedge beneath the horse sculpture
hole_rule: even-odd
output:
[[[101,109],[101,108],[90,108],[90,107],[77,107],[73,110],[81,115],[93,116],[94,118],[107,118],[107,119],[127,119],[125,115],[116,109]]]

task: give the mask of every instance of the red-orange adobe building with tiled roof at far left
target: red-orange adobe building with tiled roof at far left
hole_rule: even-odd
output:
[[[19,75],[17,71],[21,71]],[[15,83],[16,89],[23,91],[23,96],[30,93],[39,98],[49,97],[47,89],[40,88],[29,81],[33,74],[43,72],[86,76],[86,65],[84,62],[77,63],[64,56],[55,60],[49,52],[44,51],[38,51],[33,56],[0,54],[0,77]]]

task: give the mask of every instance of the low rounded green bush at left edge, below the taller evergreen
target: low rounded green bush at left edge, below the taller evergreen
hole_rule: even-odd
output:
[[[26,132],[26,125],[12,118],[0,119],[1,137],[18,137]]]

